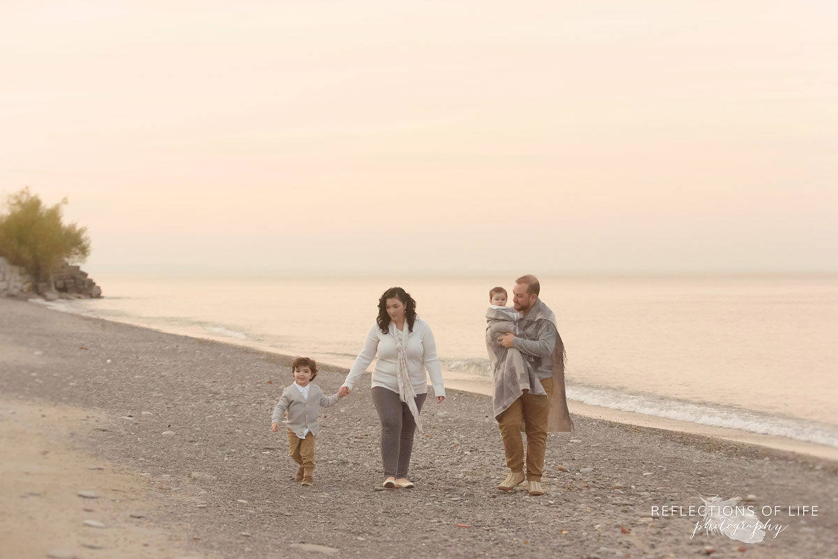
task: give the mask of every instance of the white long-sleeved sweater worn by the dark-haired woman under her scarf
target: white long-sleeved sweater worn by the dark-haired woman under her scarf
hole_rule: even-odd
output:
[[[355,357],[355,362],[349,370],[344,381],[344,387],[351,390],[355,381],[370,367],[375,356],[375,371],[372,373],[372,386],[384,387],[399,392],[399,381],[396,378],[396,326],[390,323],[390,332],[385,334],[374,324],[367,332],[364,347]],[[405,333],[407,333],[407,322],[405,322]],[[433,341],[431,328],[427,322],[416,319],[413,323],[413,331],[407,334],[407,368],[410,369],[411,383],[416,394],[427,394],[427,373],[431,376],[433,393],[436,396],[445,396],[445,387],[442,384],[442,368],[439,365],[437,356],[437,344]]]

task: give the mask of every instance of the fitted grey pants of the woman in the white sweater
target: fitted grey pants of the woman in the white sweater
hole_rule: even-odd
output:
[[[422,411],[427,394],[416,395],[416,409]],[[384,387],[372,388],[372,402],[381,422],[381,461],[384,476],[407,477],[413,451],[413,432],[416,422],[407,404],[401,402],[398,392]]]

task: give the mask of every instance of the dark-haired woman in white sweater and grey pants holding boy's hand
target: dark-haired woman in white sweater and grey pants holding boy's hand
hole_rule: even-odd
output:
[[[355,381],[375,362],[372,401],[381,422],[381,461],[385,487],[407,488],[407,468],[413,450],[413,432],[427,397],[431,376],[437,403],[445,399],[442,370],[431,329],[416,317],[416,301],[401,287],[391,287],[378,300],[378,318],[367,333],[364,347],[355,358],[339,393],[346,396]]]

